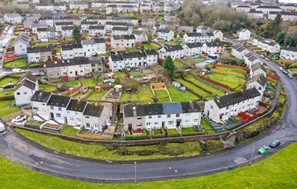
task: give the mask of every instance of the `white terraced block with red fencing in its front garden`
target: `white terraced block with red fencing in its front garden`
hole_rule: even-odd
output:
[[[248,88],[206,101],[204,113],[215,122],[225,124],[232,115],[258,106],[261,94],[256,88]]]

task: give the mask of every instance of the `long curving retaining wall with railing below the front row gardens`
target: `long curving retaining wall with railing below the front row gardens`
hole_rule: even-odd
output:
[[[68,135],[64,135],[64,134],[51,133],[48,131],[31,129],[31,128],[23,127],[23,126],[18,126],[18,128],[25,129],[28,131],[33,131],[33,132],[40,133],[40,134],[56,136],[56,137],[64,138],[64,139],[75,141],[75,142],[88,143],[88,144],[101,144],[101,145],[106,145],[106,146],[136,146],[136,145],[158,144],[161,142],[189,142],[189,141],[208,140],[208,139],[219,140],[220,138],[225,138],[226,136],[228,136],[230,133],[233,133],[234,131],[239,131],[241,129],[244,129],[248,125],[255,123],[256,121],[260,121],[261,119],[263,119],[265,117],[270,116],[276,107],[280,91],[281,91],[281,85],[278,84],[277,94],[275,95],[275,96],[277,96],[277,98],[274,98],[273,106],[270,106],[269,110],[265,114],[255,118],[251,121],[248,121],[247,123],[235,128],[233,130],[216,133],[216,134],[195,135],[195,136],[174,137],[174,138],[131,140],[131,141],[107,141],[107,140],[91,140],[91,139],[72,137],[72,136],[68,136]],[[14,125],[14,128],[15,128],[15,125]]]

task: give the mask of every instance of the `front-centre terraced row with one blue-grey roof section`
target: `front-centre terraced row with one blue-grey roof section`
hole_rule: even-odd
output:
[[[200,125],[200,119],[201,109],[198,102],[124,106],[125,131],[193,127]]]

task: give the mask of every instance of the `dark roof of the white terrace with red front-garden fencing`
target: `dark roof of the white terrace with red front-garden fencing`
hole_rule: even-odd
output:
[[[215,98],[213,101],[217,104],[219,109],[237,104],[239,102],[258,97],[260,96],[260,92],[256,88],[249,88],[243,91],[234,92],[220,98]]]

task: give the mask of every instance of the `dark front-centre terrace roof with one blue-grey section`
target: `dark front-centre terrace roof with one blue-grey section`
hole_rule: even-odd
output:
[[[133,108],[135,107],[135,108]],[[124,117],[201,112],[198,102],[176,102],[124,106]]]

